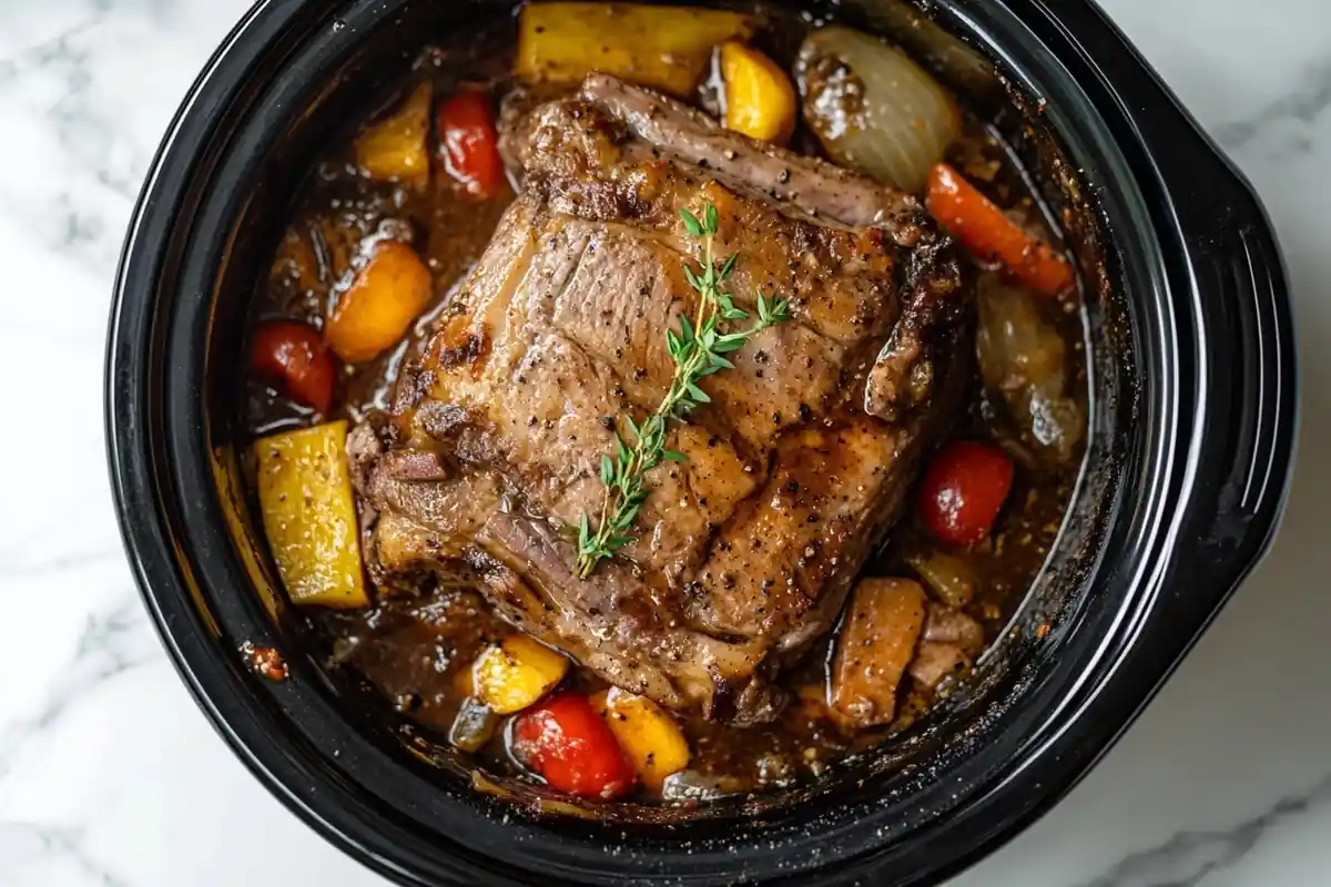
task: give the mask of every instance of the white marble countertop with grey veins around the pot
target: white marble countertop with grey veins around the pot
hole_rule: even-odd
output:
[[[194,707],[138,604],[105,479],[122,227],[246,3],[0,0],[0,884],[382,883],[272,799]],[[956,886],[1331,884],[1331,4],[1105,5],[1275,219],[1304,457],[1271,557],[1141,721]]]

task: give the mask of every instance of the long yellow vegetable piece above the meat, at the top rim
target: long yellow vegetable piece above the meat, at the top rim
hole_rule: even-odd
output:
[[[594,70],[688,96],[712,49],[753,33],[748,16],[635,3],[534,3],[518,23],[518,76],[575,84]]]

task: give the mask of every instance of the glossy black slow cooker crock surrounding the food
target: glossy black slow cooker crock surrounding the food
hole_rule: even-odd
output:
[[[474,791],[293,633],[238,483],[250,294],[310,161],[430,40],[507,3],[265,0],[170,126],[129,229],[110,472],[144,600],[200,706],[335,844],[405,884],[922,884],[1086,773],[1266,549],[1295,435],[1286,277],[1256,198],[1087,0],[845,3],[1013,132],[1083,261],[1090,451],[1045,570],[969,692],[815,790],[668,824]],[[932,23],[928,21],[932,19]],[[941,31],[961,43],[941,41]],[[291,678],[245,666],[277,646]]]

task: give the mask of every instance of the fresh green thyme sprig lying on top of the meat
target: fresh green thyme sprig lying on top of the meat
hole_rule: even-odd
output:
[[[721,283],[735,270],[739,254],[717,263],[712,255],[719,219],[716,206],[703,205],[699,218],[687,209],[679,211],[684,227],[692,237],[703,239],[703,266],[695,271],[684,265],[684,277],[697,293],[693,318],[681,314],[679,331],[666,331],[666,347],[675,362],[675,376],[669,390],[658,404],[655,412],[643,424],[624,416],[624,423],[632,432],[634,445],[615,434],[615,455],[602,455],[600,481],[606,495],[600,505],[600,517],[592,525],[591,516],[584,511],[578,525],[578,576],[587,578],[602,560],[612,557],[624,545],[634,541],[634,520],[647,500],[646,475],[663,460],[688,461],[684,453],[666,449],[666,430],[671,422],[683,422],[697,407],[711,403],[711,398],[697,383],[713,372],[733,370],[735,364],[727,354],[739,351],[763,330],[789,319],[789,301],[768,302],[757,294],[757,320],[748,328],[725,332],[719,327],[723,320],[747,320],[748,311],[736,307],[731,295],[723,291]]]

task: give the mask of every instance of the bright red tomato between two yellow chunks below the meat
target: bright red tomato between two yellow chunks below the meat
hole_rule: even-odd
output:
[[[584,798],[618,798],[634,769],[586,697],[558,693],[524,711],[512,730],[518,759],[555,789]]]

